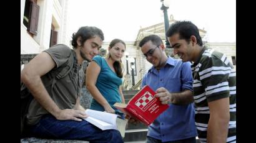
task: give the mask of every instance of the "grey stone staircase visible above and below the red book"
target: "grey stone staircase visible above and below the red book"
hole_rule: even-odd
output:
[[[138,92],[139,90],[124,90],[122,91],[126,103]],[[145,142],[147,136],[147,126],[142,123],[128,124],[124,142]]]

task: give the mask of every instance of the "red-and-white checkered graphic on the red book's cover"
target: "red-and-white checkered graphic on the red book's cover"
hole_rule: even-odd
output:
[[[155,103],[156,101],[157,99],[155,99],[154,96],[151,95],[149,91],[147,91],[135,102],[135,105],[138,106],[142,111],[145,111],[150,107],[151,104]]]

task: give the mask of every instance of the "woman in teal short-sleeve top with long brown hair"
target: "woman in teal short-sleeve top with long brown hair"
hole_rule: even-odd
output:
[[[120,39],[114,39],[109,44],[106,58],[96,56],[86,71],[86,88],[92,97],[91,109],[107,113],[124,114],[114,108],[115,103],[125,103],[122,95],[122,63],[121,58],[126,50],[126,44]]]

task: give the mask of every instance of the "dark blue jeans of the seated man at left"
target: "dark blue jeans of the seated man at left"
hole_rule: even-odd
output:
[[[82,120],[57,120],[51,114],[42,116],[30,127],[31,135],[50,139],[74,139],[89,142],[124,142],[119,131],[102,131],[91,123]]]

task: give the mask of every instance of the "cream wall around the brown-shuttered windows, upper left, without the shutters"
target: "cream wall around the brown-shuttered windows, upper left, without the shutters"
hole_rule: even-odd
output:
[[[40,7],[37,35],[31,36],[23,24],[25,0],[21,0],[21,54],[40,53],[49,48],[51,24],[58,31],[57,44],[69,44],[66,39],[67,0],[62,0],[61,2],[62,4],[59,4],[58,0],[37,0],[37,5]]]

